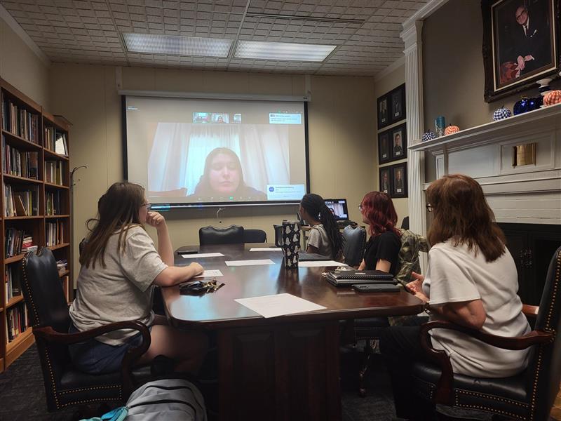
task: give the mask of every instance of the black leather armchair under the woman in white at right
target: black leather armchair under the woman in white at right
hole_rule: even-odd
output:
[[[536,323],[532,332],[518,338],[487,335],[448,321],[425,323],[421,327],[421,343],[438,366],[415,364],[417,393],[435,403],[484,410],[514,420],[548,420],[561,379],[561,247],[550,262],[539,309],[524,309],[526,314],[537,314]],[[454,374],[450,358],[428,342],[428,331],[433,328],[459,330],[502,349],[526,349],[533,345],[528,367],[518,375],[499,379]]]

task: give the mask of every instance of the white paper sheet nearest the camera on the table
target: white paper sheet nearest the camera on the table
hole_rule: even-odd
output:
[[[234,300],[241,305],[252,309],[265,318],[283,316],[284,314],[295,314],[313,312],[325,309],[322,305],[295,297],[292,294],[264,295],[262,297],[238,298]]]

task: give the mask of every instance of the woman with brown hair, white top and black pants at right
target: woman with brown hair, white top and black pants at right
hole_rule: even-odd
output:
[[[428,268],[426,276],[414,273],[407,289],[426,303],[431,319],[493,335],[525,335],[529,325],[516,294],[516,266],[481,186],[466,175],[446,175],[428,187],[426,199],[434,216],[428,231]],[[426,318],[417,318],[411,324],[423,321]],[[431,342],[450,356],[454,373],[510,377],[527,365],[527,349],[498,349],[454,330],[431,331]],[[419,326],[386,329],[380,349],[391,373],[398,417],[431,419],[434,406],[410,390],[412,364],[426,358]]]

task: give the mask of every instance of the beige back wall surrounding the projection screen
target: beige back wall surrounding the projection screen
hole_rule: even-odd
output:
[[[304,95],[304,76],[189,72],[127,67],[123,88],[156,91],[202,91]],[[77,173],[74,187],[74,249],[86,235],[85,222],[95,216],[97,199],[123,174],[121,105],[116,68],[53,64],[52,108],[74,126],[70,132],[71,166],[88,166]],[[359,220],[358,203],[376,188],[373,165],[375,119],[371,78],[311,77],[309,149],[311,190],[322,196],[349,199],[351,219]],[[357,205],[357,206],[355,206]],[[293,219],[295,206],[174,210],[165,214],[174,247],[198,243],[205,225],[243,225],[264,229],[274,238],[273,223]],[[154,234],[154,232],[151,232]],[[77,262],[74,262],[76,267]],[[77,272],[77,271],[76,271]]]

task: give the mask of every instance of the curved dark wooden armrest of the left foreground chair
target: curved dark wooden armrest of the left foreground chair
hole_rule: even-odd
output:
[[[140,335],[142,335],[142,342],[137,347],[130,347],[123,357],[123,363],[121,364],[121,382],[123,383],[123,395],[127,398],[131,392],[133,392],[133,362],[147,352],[150,347],[151,337],[150,330],[147,326],[140,321],[117,321],[115,323],[109,323],[99,328],[86,330],[79,333],[60,333],[54,330],[50,326],[43,326],[40,328],[33,328],[33,333],[36,337],[46,340],[48,342],[56,342],[65,345],[72,345],[85,340],[95,338],[96,336],[102,335],[104,333],[109,333],[114,330],[121,329],[133,329],[138,330]]]

